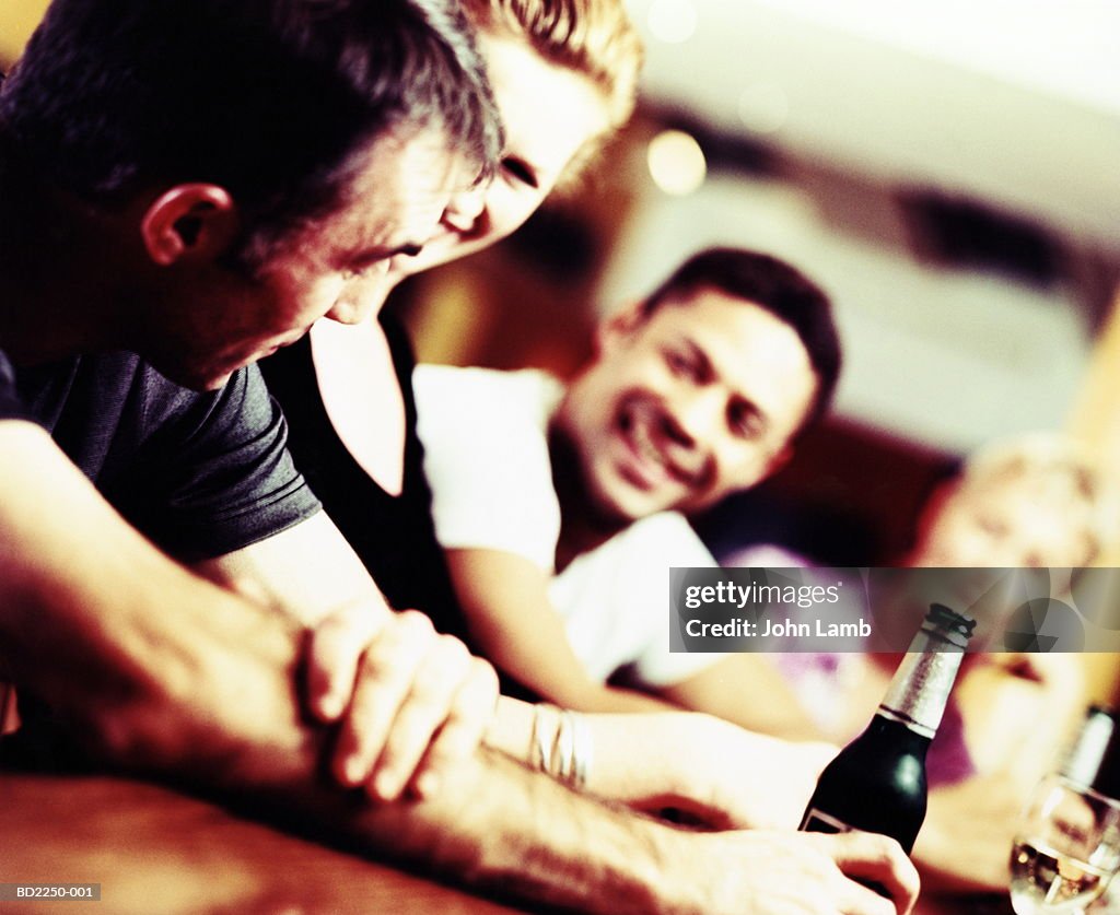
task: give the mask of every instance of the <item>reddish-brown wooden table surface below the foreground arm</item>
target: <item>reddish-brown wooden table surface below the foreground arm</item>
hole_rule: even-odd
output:
[[[100,883],[101,902],[18,915],[508,915],[515,909],[156,785],[0,773],[0,883]]]

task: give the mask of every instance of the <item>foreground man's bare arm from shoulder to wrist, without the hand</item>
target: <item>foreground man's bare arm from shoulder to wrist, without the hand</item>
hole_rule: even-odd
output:
[[[15,463],[0,460],[0,645],[19,688],[92,753],[256,799],[472,885],[589,909],[648,908],[652,837],[669,831],[496,754],[466,760],[422,802],[376,805],[329,784],[332,731],[301,712],[299,624],[161,555],[40,431],[16,429],[6,450]]]

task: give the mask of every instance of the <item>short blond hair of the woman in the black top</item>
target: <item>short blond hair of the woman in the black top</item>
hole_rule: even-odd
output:
[[[603,94],[609,129],[585,144],[569,172],[578,171],[634,112],[644,50],[623,0],[463,0],[463,9],[478,30],[526,41]]]

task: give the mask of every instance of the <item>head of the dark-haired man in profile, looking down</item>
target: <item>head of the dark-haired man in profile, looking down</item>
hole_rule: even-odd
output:
[[[9,330],[9,355],[127,347],[213,389],[332,309],[356,320],[393,258],[421,248],[448,195],[486,178],[501,150],[465,28],[421,1],[55,3],[0,96],[2,254],[65,269],[100,242],[100,272],[129,289],[109,290],[112,321],[86,308],[96,326],[67,314],[47,343]],[[113,237],[132,220],[141,251]],[[43,251],[45,236],[58,250]],[[137,255],[142,280],[111,269]],[[245,309],[199,295],[181,274],[204,258],[245,309],[264,295],[289,314],[265,318],[260,301],[234,317]]]

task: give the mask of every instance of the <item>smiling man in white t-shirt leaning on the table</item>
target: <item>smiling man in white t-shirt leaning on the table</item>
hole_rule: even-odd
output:
[[[482,653],[533,693],[589,711],[648,709],[605,685],[796,732],[734,684],[787,691],[748,655],[672,654],[670,566],[713,560],[681,513],[754,486],[828,409],[840,344],[825,296],[734,249],[685,262],[606,320],[564,389],[539,372],[421,366],[437,534]]]

